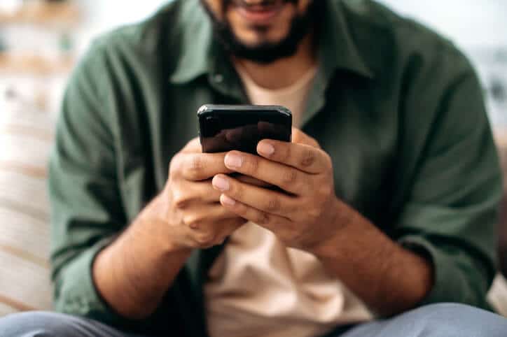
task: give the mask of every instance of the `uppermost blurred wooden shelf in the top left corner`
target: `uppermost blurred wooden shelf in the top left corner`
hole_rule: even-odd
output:
[[[72,2],[30,1],[13,13],[0,10],[0,24],[29,23],[72,27],[79,22],[78,7]]]

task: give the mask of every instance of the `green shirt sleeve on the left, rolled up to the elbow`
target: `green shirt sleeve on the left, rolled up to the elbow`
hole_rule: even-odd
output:
[[[69,81],[50,157],[55,309],[118,325],[92,278],[92,263],[125,227],[116,180],[107,77],[96,43]]]

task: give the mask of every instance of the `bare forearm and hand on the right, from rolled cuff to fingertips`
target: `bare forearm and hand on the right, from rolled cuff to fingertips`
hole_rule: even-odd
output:
[[[264,140],[262,157],[229,152],[225,166],[280,187],[276,192],[245,185],[226,175],[213,184],[221,203],[272,231],[285,245],[319,258],[379,315],[413,308],[433,285],[433,266],[391,240],[368,219],[335,196],[333,167],[316,141],[295,131],[294,141]]]

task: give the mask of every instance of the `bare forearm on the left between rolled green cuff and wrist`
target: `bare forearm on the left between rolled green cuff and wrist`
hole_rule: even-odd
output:
[[[191,253],[161,249],[141,227],[132,223],[92,266],[97,292],[118,314],[134,320],[153,313]]]

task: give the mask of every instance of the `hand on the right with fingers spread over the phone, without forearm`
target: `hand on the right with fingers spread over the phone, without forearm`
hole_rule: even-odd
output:
[[[294,129],[294,143],[263,140],[261,157],[231,151],[225,166],[232,171],[263,180],[282,192],[252,186],[218,174],[214,187],[228,210],[269,229],[285,245],[310,250],[326,241],[338,217],[333,166],[317,141]],[[300,143],[296,143],[300,142]]]

